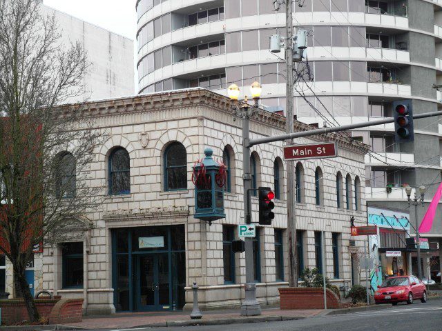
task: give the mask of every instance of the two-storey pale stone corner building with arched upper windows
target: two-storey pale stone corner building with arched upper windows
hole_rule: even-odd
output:
[[[35,254],[35,290],[67,298],[83,297],[87,314],[115,311],[181,310],[191,306],[193,282],[200,307],[234,307],[244,298],[244,253],[231,241],[244,222],[242,212],[241,121],[233,121],[231,101],[203,89],[177,90],[82,105],[107,141],[90,166],[91,185],[103,188],[104,203],[91,211],[93,228],[80,242],[45,247]],[[296,130],[309,126],[296,122]],[[285,132],[285,118],[260,110],[251,137]],[[296,165],[298,266],[320,267],[325,247],[327,277],[335,285],[358,283],[358,250],[350,219],[367,223],[364,188],[365,145],[338,135],[298,139],[298,143],[338,141],[336,159]],[[276,218],[258,227],[254,241],[257,296],[262,305],[278,302],[287,285],[286,167],[282,142],[253,147],[253,186],[276,193]],[[228,165],[224,194],[227,217],[194,219],[191,169],[213,149]],[[257,199],[252,197],[253,221]],[[320,231],[325,231],[321,242]],[[10,275],[9,275],[10,276]]]

